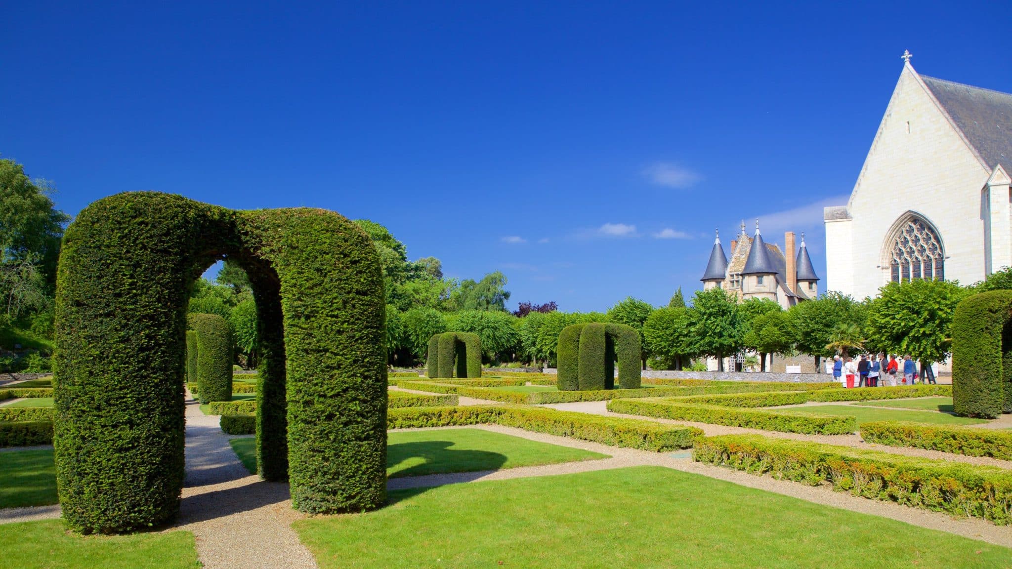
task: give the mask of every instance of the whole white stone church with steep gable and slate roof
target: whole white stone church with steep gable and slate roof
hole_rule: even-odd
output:
[[[825,209],[826,290],[968,284],[1012,266],[1012,94],[919,75],[910,54],[846,206]]]

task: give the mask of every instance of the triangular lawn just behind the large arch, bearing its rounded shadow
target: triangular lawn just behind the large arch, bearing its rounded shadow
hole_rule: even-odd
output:
[[[239,460],[255,472],[252,438],[233,438]],[[476,472],[606,459],[607,455],[549,444],[477,428],[409,430],[387,438],[387,474],[391,478],[447,472]]]

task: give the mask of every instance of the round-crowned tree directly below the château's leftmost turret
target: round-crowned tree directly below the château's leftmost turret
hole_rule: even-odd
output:
[[[716,357],[723,372],[724,357],[743,347],[738,304],[724,289],[696,291],[689,315],[695,343],[693,351]]]

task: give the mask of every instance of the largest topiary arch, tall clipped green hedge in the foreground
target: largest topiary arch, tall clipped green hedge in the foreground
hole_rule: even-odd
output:
[[[54,444],[72,529],[122,532],[178,511],[187,294],[224,256],[246,269],[257,305],[260,474],[287,478],[307,512],[386,501],[386,310],[369,238],[325,210],[120,193],[67,228],[58,270]]]

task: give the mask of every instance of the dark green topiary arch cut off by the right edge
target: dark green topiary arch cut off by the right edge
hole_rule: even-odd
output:
[[[1012,413],[1012,291],[981,293],[956,305],[952,406],[964,417]]]

